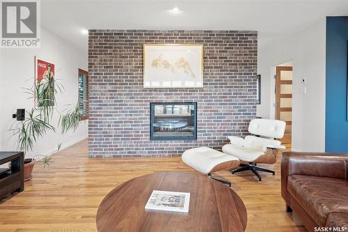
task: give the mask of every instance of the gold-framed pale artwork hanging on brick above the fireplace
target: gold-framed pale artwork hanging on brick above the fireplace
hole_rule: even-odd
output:
[[[143,45],[144,88],[203,88],[203,45]]]

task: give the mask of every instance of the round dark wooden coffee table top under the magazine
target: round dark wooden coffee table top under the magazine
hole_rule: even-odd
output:
[[[145,210],[152,190],[190,192],[189,213]],[[193,173],[155,173],[128,180],[107,194],[97,230],[245,231],[246,208],[227,185]]]

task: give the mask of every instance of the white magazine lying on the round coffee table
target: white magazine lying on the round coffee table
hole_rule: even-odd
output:
[[[168,192],[153,190],[146,210],[164,210],[172,212],[189,212],[189,192]]]

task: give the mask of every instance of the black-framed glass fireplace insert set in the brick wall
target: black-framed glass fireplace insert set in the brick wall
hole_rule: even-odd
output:
[[[150,139],[197,139],[197,103],[150,103]]]

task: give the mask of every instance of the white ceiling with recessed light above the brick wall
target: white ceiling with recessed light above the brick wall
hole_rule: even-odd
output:
[[[180,13],[171,12],[175,6]],[[262,46],[325,16],[348,15],[348,0],[42,0],[41,9],[43,27],[86,52],[82,29],[253,30]]]

